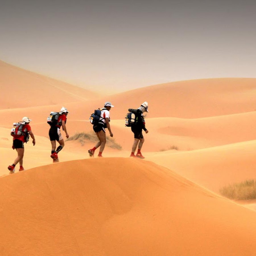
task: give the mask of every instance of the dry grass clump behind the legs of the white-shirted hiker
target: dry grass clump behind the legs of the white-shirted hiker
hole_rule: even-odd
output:
[[[75,133],[75,135],[69,137],[67,139],[67,141],[79,141],[81,143],[82,146],[84,146],[86,141],[98,141],[98,137],[96,136],[96,134],[94,132],[90,132],[90,133]],[[115,139],[108,137],[106,138],[106,145],[109,146],[110,148],[115,148],[118,150],[121,150],[122,147],[115,142]]]

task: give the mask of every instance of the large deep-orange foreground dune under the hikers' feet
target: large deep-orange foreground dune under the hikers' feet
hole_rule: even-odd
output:
[[[1,255],[256,250],[255,212],[152,162],[77,160],[1,177],[0,186]]]

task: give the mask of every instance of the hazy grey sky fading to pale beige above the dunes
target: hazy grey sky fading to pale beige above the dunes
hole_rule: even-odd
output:
[[[256,1],[8,0],[0,59],[90,90],[256,77]]]

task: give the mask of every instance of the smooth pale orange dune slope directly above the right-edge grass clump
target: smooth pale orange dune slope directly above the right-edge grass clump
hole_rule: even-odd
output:
[[[225,185],[255,179],[255,147],[254,140],[187,152],[150,153],[148,158],[218,192]]]

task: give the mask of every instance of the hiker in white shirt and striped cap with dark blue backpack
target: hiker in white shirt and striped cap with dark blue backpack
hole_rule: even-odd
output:
[[[106,144],[106,131],[105,128],[108,128],[110,137],[113,137],[113,133],[110,128],[110,109],[113,107],[111,102],[105,102],[104,108],[97,110],[90,117],[90,122],[93,124],[93,130],[96,133],[99,142],[92,148],[88,150],[90,156],[94,156],[95,150],[100,146],[100,152],[98,157],[102,157],[102,152]]]

